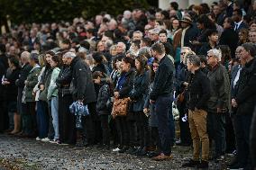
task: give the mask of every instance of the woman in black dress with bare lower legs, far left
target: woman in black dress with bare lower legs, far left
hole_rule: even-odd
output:
[[[18,87],[15,85],[15,81],[19,78],[21,69],[19,59],[14,56],[8,58],[8,64],[10,71],[6,72],[2,85],[5,85],[5,95],[8,103],[9,129],[12,130],[11,134],[16,134],[20,131],[21,115],[17,113]]]

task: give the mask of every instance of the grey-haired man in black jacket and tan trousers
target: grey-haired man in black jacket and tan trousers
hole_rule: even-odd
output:
[[[188,122],[193,139],[193,159],[183,166],[207,168],[209,158],[209,139],[206,131],[206,108],[210,98],[210,82],[206,74],[200,69],[200,58],[196,55],[187,58],[187,69],[191,73],[188,93]],[[200,158],[200,144],[202,142],[202,160]]]

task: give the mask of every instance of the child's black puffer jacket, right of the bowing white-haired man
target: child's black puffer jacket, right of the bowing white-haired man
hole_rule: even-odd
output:
[[[111,97],[111,94],[110,94],[109,85],[107,84],[102,85],[101,88],[99,89],[99,93],[97,96],[97,103],[96,103],[96,111],[99,115],[110,114],[106,106],[107,100],[110,97]]]

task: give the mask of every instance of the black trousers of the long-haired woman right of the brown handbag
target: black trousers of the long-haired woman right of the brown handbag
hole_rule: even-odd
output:
[[[150,146],[150,132],[149,132],[149,120],[143,112],[136,112],[136,125],[139,132],[139,145],[140,147]]]

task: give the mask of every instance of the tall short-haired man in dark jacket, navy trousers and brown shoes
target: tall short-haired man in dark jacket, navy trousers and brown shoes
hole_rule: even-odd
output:
[[[173,124],[172,115],[172,90],[175,67],[165,54],[164,45],[157,42],[152,45],[152,56],[160,63],[154,79],[154,86],[150,94],[151,103],[155,103],[158,116],[160,134],[160,155],[152,157],[153,160],[161,161],[172,158],[170,127]]]

